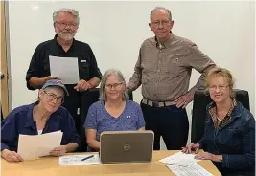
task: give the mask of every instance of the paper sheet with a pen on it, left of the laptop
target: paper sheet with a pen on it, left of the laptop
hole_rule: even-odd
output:
[[[98,154],[93,155],[92,158],[81,161],[81,159],[90,155],[66,155],[59,157],[59,165],[99,165],[101,164]]]

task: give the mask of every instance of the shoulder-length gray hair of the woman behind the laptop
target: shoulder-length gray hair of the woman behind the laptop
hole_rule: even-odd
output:
[[[100,85],[100,99],[103,99],[103,100],[106,100],[106,95],[105,95],[105,82],[106,82],[106,79],[110,76],[116,76],[117,79],[120,81],[120,82],[123,82],[124,86],[125,86],[125,89],[124,89],[124,92],[123,92],[123,97],[122,99],[126,100],[128,99],[128,89],[126,87],[126,80],[125,80],[125,77],[123,76],[123,74],[117,70],[117,69],[108,69],[107,71],[105,71],[105,74],[102,78],[102,81],[101,81],[101,85]]]

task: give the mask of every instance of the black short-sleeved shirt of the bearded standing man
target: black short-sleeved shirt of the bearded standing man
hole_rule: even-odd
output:
[[[75,40],[70,49],[65,52],[57,42],[57,35],[54,39],[40,43],[32,57],[30,67],[27,71],[26,81],[29,90],[35,90],[29,85],[31,77],[47,77],[51,75],[49,56],[77,57],[80,79],[89,80],[93,77],[101,79],[102,74],[97,66],[95,56],[87,43]],[[68,69],[68,68],[66,68]]]

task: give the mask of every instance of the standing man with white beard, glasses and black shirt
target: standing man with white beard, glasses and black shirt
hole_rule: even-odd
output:
[[[42,42],[36,47],[26,75],[27,87],[29,90],[40,89],[47,80],[61,79],[51,76],[49,56],[78,58],[80,81],[77,84],[65,85],[70,96],[65,99],[63,106],[73,116],[80,132],[78,108],[81,92],[97,87],[102,74],[90,46],[74,39],[79,28],[79,12],[60,9],[53,13],[53,22],[57,34],[54,39]]]

